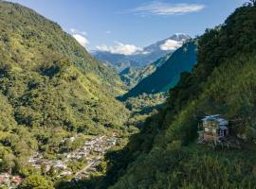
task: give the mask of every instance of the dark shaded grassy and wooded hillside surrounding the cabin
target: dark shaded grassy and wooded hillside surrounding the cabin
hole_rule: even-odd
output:
[[[99,188],[255,188],[256,8],[245,6],[198,42],[198,63],[123,150]],[[203,113],[232,123],[231,146],[198,145]]]

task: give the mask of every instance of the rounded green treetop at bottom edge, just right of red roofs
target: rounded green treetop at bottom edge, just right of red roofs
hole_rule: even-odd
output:
[[[43,176],[33,175],[27,177],[19,186],[19,189],[53,189],[53,183]]]

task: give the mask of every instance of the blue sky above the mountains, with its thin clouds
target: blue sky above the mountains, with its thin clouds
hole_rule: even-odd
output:
[[[245,0],[11,0],[57,22],[87,49],[137,48],[222,24]],[[104,45],[103,45],[104,44]]]

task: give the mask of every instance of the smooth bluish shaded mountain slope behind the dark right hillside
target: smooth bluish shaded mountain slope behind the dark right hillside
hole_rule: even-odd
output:
[[[161,61],[161,60],[160,60]],[[195,42],[185,43],[173,55],[158,67],[152,75],[142,79],[134,88],[121,98],[139,94],[157,94],[173,88],[180,79],[182,72],[190,72],[196,63]]]

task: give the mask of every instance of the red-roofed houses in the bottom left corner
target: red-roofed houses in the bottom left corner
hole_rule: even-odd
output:
[[[12,176],[9,173],[0,174],[0,187],[7,186],[8,188],[17,188],[23,178],[20,176]]]

